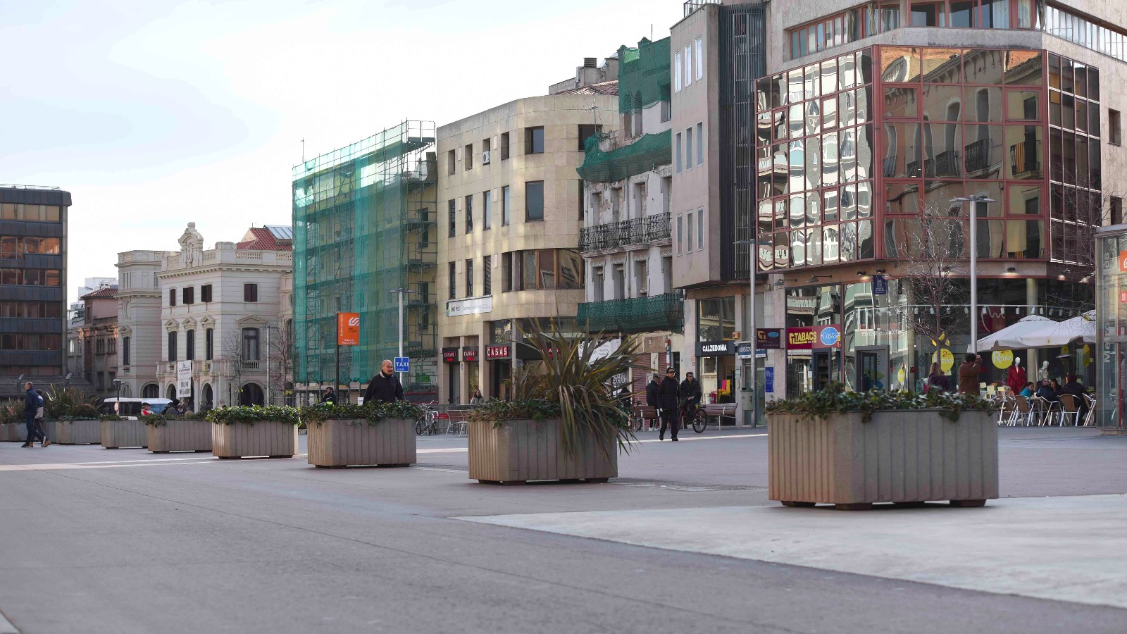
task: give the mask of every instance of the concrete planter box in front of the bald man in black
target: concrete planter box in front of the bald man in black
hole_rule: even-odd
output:
[[[309,423],[309,464],[318,467],[384,465],[416,461],[415,421],[330,419]]]

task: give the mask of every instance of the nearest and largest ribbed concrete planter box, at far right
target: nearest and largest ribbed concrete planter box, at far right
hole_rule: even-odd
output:
[[[997,424],[990,412],[877,412],[767,417],[769,493],[786,505],[949,500],[980,507],[997,494]]]

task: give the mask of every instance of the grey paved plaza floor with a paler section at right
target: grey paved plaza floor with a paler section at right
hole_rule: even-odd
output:
[[[1127,438],[1004,429],[1003,500],[767,500],[763,430],[609,484],[0,443],[0,634],[1127,632]],[[304,437],[302,437],[304,442]]]

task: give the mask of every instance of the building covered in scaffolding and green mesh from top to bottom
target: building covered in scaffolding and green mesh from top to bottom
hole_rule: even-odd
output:
[[[293,168],[293,380],[302,399],[335,382],[355,395],[400,346],[411,363],[406,391],[435,398],[433,147],[433,123],[405,121]],[[338,312],[360,315],[358,345],[337,346]]]

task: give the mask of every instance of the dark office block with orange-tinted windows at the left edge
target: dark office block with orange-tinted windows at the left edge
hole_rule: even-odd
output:
[[[0,186],[0,396],[66,375],[66,215],[70,192]]]

